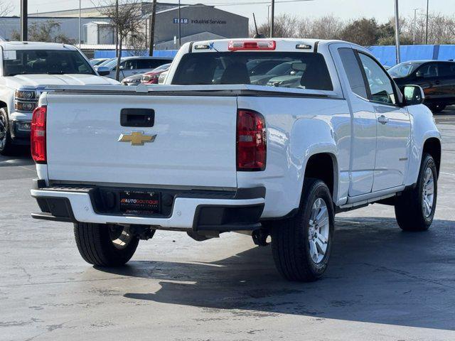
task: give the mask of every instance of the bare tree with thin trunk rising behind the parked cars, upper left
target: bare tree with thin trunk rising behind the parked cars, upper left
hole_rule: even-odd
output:
[[[107,16],[116,28],[119,42],[119,53],[117,55],[117,67],[115,79],[119,80],[120,59],[122,58],[123,43],[127,43],[127,38],[144,34],[143,18],[141,13],[141,1],[132,0],[122,4],[119,10],[116,10],[114,0],[105,0],[100,3],[100,13]]]

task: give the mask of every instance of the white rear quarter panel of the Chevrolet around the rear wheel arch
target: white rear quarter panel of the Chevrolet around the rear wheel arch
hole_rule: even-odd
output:
[[[344,99],[238,97],[238,107],[256,110],[266,120],[266,169],[237,172],[238,187],[267,189],[263,218],[299,207],[306,163],[316,153],[331,153],[335,160],[334,202],[347,196],[350,112]]]

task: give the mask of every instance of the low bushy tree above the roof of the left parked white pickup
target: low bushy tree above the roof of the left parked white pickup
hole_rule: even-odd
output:
[[[14,31],[11,35],[12,40],[21,40],[21,34]],[[65,34],[60,32],[60,23],[53,20],[48,20],[43,23],[34,22],[28,26],[29,41],[45,41],[48,43],[75,43],[74,39],[70,39]]]

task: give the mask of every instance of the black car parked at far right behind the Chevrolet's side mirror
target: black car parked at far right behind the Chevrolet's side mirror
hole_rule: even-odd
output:
[[[455,104],[455,62],[416,60],[400,63],[388,72],[398,86],[420,85],[424,90],[425,102],[434,113],[441,112],[447,105]]]

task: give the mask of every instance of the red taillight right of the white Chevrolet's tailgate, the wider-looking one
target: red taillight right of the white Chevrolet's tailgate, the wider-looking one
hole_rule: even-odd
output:
[[[237,112],[237,171],[264,171],[267,131],[262,114],[247,109]]]

